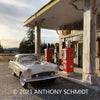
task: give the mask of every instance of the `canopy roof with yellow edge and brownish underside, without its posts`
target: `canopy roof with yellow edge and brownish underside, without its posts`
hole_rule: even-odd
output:
[[[99,0],[97,0],[99,1]],[[97,3],[98,4],[98,3]],[[59,29],[83,19],[84,0],[51,0],[24,22],[24,26]],[[100,9],[98,9],[100,13]]]

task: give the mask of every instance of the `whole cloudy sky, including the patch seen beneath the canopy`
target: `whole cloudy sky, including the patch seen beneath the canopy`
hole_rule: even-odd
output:
[[[26,37],[25,20],[50,0],[0,0],[0,42],[4,48],[19,47]],[[59,42],[56,31],[41,29],[41,41]]]

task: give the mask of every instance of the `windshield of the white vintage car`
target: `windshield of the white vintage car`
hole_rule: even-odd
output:
[[[20,63],[24,63],[24,62],[32,62],[32,61],[36,61],[37,60],[37,57],[34,56],[34,55],[24,55],[24,56],[21,56],[18,61]]]

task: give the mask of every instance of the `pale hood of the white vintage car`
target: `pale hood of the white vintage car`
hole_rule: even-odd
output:
[[[55,71],[57,68],[56,64],[48,63],[48,62],[32,62],[24,64],[27,69],[31,69],[33,74],[46,72],[46,71]]]

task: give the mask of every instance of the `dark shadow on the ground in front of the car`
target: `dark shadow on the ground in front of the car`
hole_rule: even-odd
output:
[[[73,83],[71,81],[68,81],[64,78],[58,78],[54,83],[51,83],[50,81],[41,81],[41,82],[34,82],[29,84],[29,86],[27,87],[27,89],[30,89],[33,91],[33,94],[35,91],[37,90],[51,90],[51,93],[53,94],[46,94],[43,93],[41,94],[41,92],[38,94],[34,94],[38,97],[40,97],[42,100],[99,100],[100,98],[100,94],[96,93],[95,91],[88,89],[82,85]],[[88,93],[87,94],[66,94],[67,92],[64,90],[86,90],[88,89]],[[54,91],[53,91],[54,90]],[[62,92],[60,93],[56,93],[55,91],[58,90],[62,90]]]

